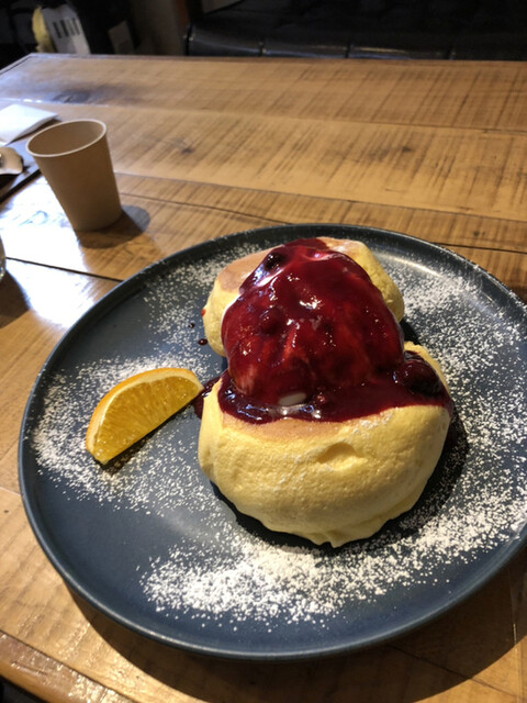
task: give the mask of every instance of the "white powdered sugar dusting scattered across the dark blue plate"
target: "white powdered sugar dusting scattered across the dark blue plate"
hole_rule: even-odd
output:
[[[199,422],[190,408],[119,471],[103,471],[86,453],[91,410],[122,378],[157,366],[192,368],[202,381],[217,375],[221,360],[198,345],[199,313],[217,270],[257,248],[233,244],[206,261],[168,269],[134,303],[144,327],[138,349],[115,343],[103,355],[79,352],[77,362],[54,371],[30,437],[41,476],[69,498],[108,505],[109,521],[119,520],[115,511],[133,511],[170,529],[190,525],[170,532],[175,538],[136,567],[145,601],[176,628],[190,621],[234,637],[248,624],[279,636],[284,626],[305,633],[358,623],[386,598],[393,605],[394,593],[394,611],[424,590],[440,601],[462,579],[463,565],[487,562],[527,522],[524,332],[482,291],[476,274],[462,277],[448,261],[426,266],[379,252],[403,292],[413,333],[444,368],[458,420],[422,500],[371,539],[314,547],[237,515],[199,469]],[[127,334],[137,336],[137,328]]]

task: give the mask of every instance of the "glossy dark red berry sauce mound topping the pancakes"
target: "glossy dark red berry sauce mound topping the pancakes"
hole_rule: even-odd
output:
[[[450,405],[368,274],[319,239],[269,252],[225,311],[220,404],[248,422],[344,421],[410,404]]]

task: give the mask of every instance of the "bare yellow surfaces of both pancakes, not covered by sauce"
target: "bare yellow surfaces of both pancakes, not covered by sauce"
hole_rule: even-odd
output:
[[[395,316],[402,316],[401,293],[377,259],[372,265],[371,253],[360,244],[329,242],[352,250],[359,265],[367,261],[370,278],[390,299]],[[218,330],[224,306],[265,254],[238,259],[220,274],[206,313],[214,311]],[[445,382],[423,347],[406,343],[405,348],[428,361]],[[242,513],[269,529],[334,547],[373,535],[415,504],[450,424],[447,409],[421,404],[345,422],[284,417],[254,424],[222,411],[218,387],[203,403],[198,455],[204,473]]]

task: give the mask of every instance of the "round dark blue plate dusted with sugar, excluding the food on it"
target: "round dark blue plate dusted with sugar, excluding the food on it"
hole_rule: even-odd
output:
[[[191,368],[202,381],[222,370],[200,316],[216,272],[246,253],[322,235],[371,247],[403,292],[406,334],[450,384],[452,433],[415,507],[339,549],[270,533],[201,473],[192,408],[99,467],[83,436],[115,382],[159,366]],[[392,232],[279,226],[178,253],[96,304],[36,379],[20,440],[27,517],[77,593],[156,640],[246,659],[385,641],[467,598],[526,537],[526,328],[523,303],[486,272]]]

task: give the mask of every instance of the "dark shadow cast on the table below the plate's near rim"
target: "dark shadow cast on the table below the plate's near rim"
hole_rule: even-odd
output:
[[[525,560],[525,550],[513,561],[513,573],[514,563],[520,560]],[[516,571],[523,573],[519,566]],[[507,568],[448,614],[386,645],[345,656],[278,663],[187,654],[130,632],[78,595],[74,599],[101,637],[133,666],[167,687],[209,703],[414,703],[473,679],[526,634],[517,632],[514,636]],[[524,623],[516,622],[516,627],[525,627],[525,618],[519,620]],[[471,684],[471,700],[476,700],[478,687],[490,684],[492,673],[486,672],[480,682]]]

